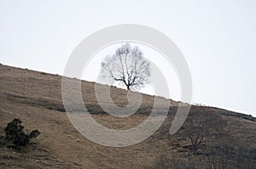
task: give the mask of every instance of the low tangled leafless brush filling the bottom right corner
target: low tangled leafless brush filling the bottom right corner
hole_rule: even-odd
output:
[[[255,149],[247,146],[223,143],[207,147],[207,155],[183,155],[178,158],[160,156],[153,168],[162,169],[254,169]]]

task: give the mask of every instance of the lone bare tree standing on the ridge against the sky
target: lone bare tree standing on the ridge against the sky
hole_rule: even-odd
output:
[[[102,75],[113,83],[118,82],[127,90],[140,89],[149,82],[150,65],[143,58],[143,52],[137,46],[125,43],[117,48],[113,55],[107,55],[102,61]]]

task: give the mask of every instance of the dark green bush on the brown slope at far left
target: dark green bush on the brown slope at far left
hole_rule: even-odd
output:
[[[5,137],[13,141],[16,148],[19,146],[26,146],[30,144],[32,138],[37,138],[38,135],[41,133],[38,130],[33,130],[29,134],[23,132],[24,127],[21,126],[20,119],[14,119],[13,121],[7,124],[7,127],[4,128]]]

